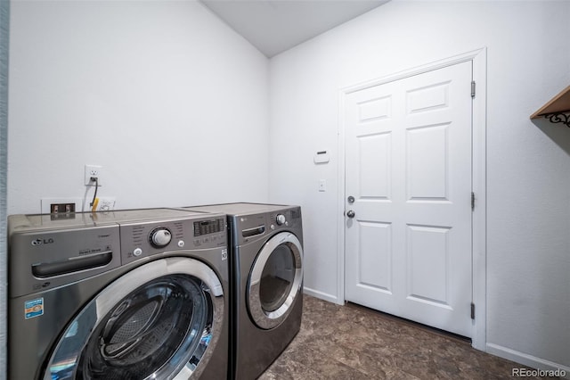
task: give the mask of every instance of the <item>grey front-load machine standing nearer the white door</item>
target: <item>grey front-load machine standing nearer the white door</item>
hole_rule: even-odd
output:
[[[255,379],[285,350],[301,326],[301,209],[256,203],[189,209],[228,216],[233,376],[239,380]]]

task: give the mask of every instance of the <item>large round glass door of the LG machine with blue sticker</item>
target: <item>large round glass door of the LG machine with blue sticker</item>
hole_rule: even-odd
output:
[[[214,271],[198,260],[167,258],[135,268],[69,323],[44,379],[199,376],[221,330],[223,295]]]

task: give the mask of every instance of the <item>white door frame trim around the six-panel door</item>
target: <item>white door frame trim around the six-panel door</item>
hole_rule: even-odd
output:
[[[473,320],[471,345],[477,350],[486,347],[486,105],[487,105],[487,48],[454,55],[440,61],[430,62],[415,68],[396,72],[382,78],[375,78],[343,87],[338,96],[338,303],[345,303],[345,107],[346,95],[365,88],[383,85],[395,80],[442,69],[462,62],[473,62],[473,80],[476,82],[476,96],[472,111],[472,191],[476,196],[472,213],[472,302],[476,305]]]

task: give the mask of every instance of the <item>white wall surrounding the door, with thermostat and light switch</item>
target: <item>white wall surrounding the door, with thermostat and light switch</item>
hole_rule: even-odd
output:
[[[393,1],[270,61],[270,201],[303,207],[308,292],[343,301],[339,89],[486,46],[487,351],[570,367],[570,128],[529,120],[570,84],[569,19],[567,1]]]

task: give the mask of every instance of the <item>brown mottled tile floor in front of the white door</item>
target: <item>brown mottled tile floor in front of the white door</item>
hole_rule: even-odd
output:
[[[305,295],[301,330],[259,379],[508,379],[512,368],[524,366],[456,336]]]

